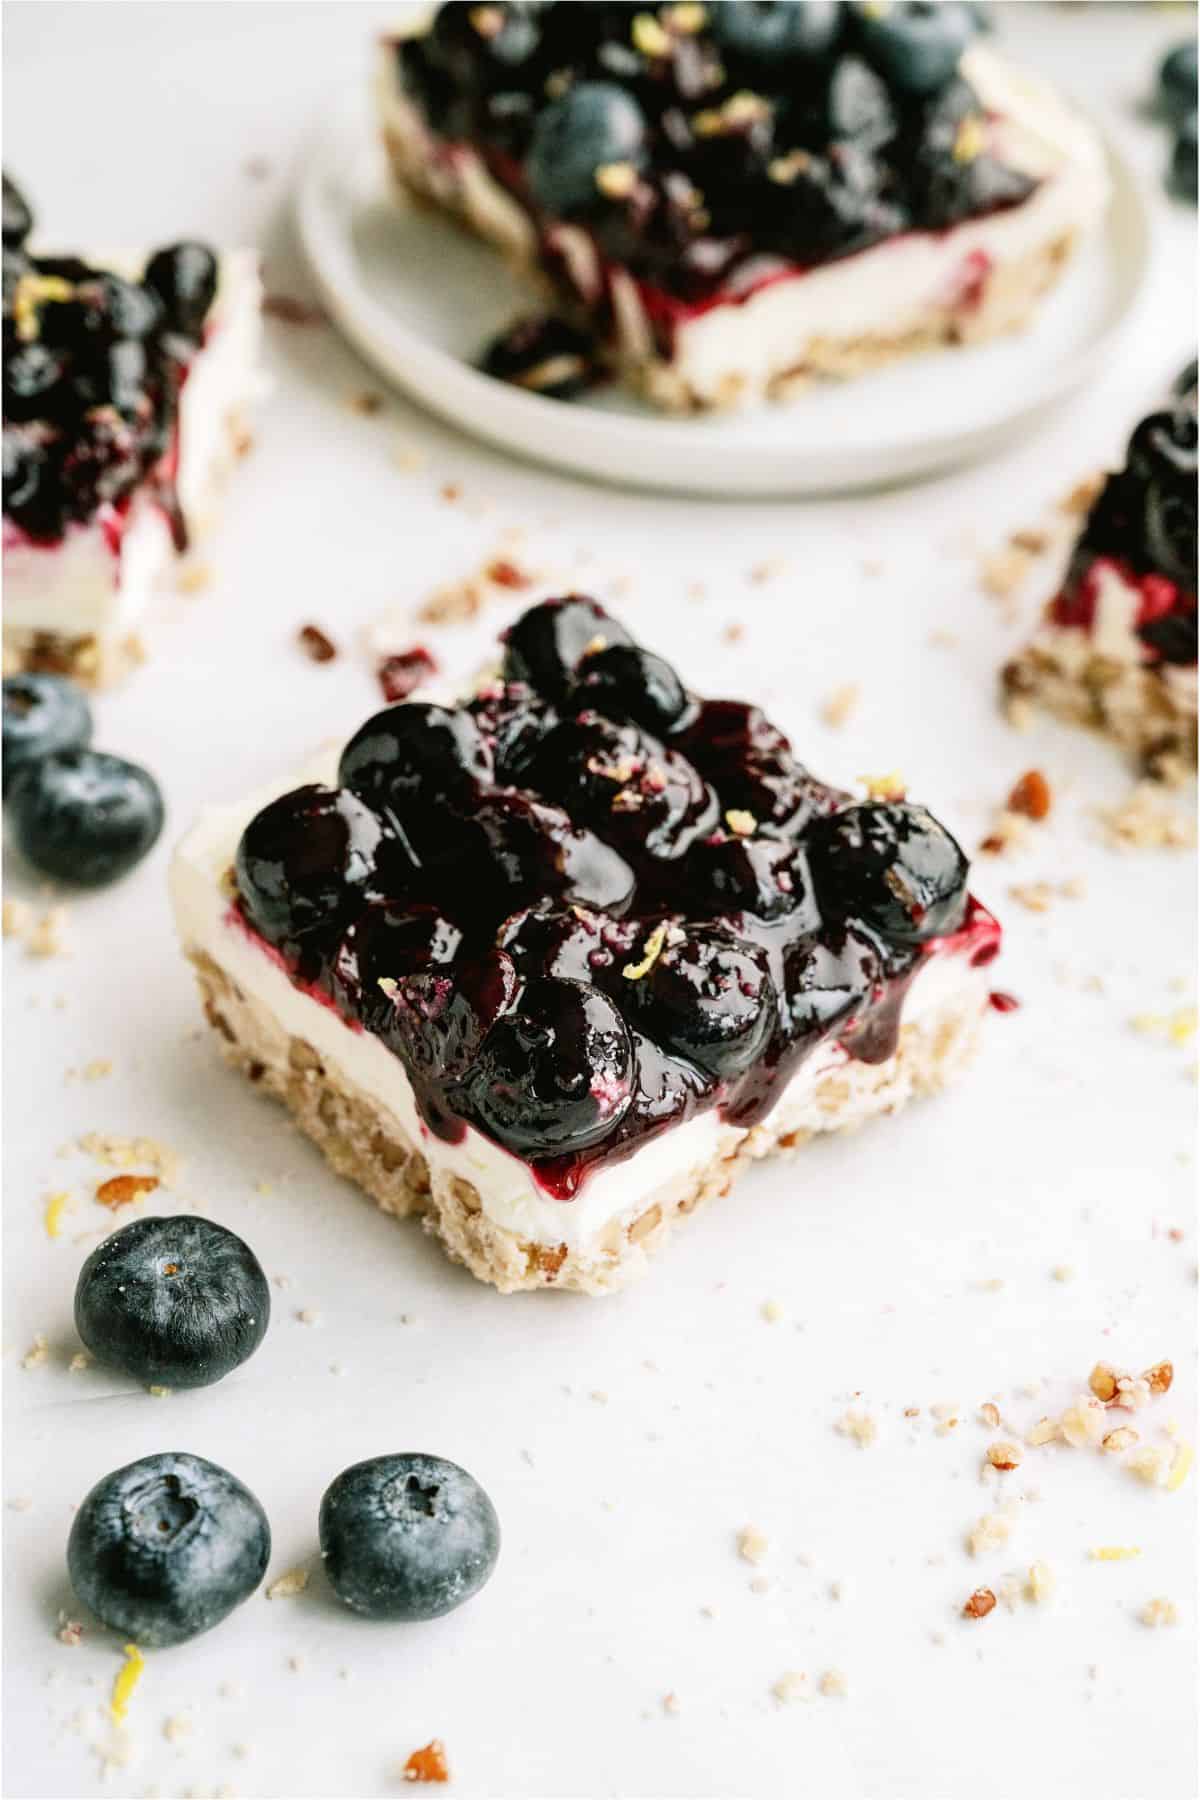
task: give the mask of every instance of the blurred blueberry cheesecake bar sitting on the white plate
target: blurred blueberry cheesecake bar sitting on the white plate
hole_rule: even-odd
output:
[[[398,187],[542,277],[671,409],[1025,326],[1096,133],[941,5],[443,5],[380,49]]]

